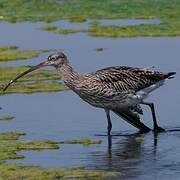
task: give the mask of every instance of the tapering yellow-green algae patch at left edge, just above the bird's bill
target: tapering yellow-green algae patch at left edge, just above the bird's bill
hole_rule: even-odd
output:
[[[29,59],[29,58],[37,57],[39,56],[39,54],[48,51],[49,51],[48,49],[19,50],[17,46],[11,46],[11,45],[0,46],[0,61]]]

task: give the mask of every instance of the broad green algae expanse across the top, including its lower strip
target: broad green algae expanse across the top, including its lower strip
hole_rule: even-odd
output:
[[[101,25],[93,23],[87,29],[62,29],[47,26],[42,29],[60,34],[86,32],[91,36],[177,36],[180,35],[180,0],[9,0],[0,2],[0,20],[45,21],[66,19],[83,22],[87,19],[153,19],[160,24]]]

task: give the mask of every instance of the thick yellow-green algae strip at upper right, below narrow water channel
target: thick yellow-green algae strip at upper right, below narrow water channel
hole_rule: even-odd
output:
[[[94,24],[90,27],[88,34],[96,37],[156,37],[156,36],[178,36],[180,35],[180,24],[141,24],[141,25],[100,25]]]

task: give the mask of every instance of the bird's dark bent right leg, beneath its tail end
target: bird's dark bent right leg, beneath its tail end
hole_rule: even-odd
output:
[[[163,132],[163,131],[165,131],[165,129],[163,129],[162,127],[158,126],[158,124],[157,124],[154,103],[143,102],[142,104],[147,105],[147,106],[149,106],[151,108],[151,113],[152,113],[152,117],[153,117],[153,124],[154,124],[154,132]]]

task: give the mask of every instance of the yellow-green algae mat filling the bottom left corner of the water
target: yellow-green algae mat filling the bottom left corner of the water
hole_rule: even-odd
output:
[[[84,167],[74,168],[41,168],[33,165],[9,164],[7,159],[24,158],[17,154],[20,150],[58,149],[58,143],[50,140],[20,141],[23,132],[10,131],[0,133],[0,179],[106,179],[120,175],[117,172],[89,170]]]

